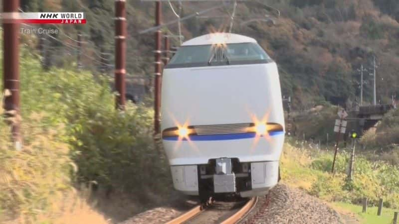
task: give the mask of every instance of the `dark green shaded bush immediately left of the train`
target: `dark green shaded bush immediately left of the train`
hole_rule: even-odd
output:
[[[134,106],[123,113],[84,112],[92,115],[81,114],[84,119],[76,122],[71,140],[80,181],[95,180],[108,189],[127,191],[168,189],[167,159],[151,136],[152,112]]]

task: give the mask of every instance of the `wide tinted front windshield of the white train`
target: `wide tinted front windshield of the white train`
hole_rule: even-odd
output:
[[[221,57],[215,57],[221,51]],[[258,64],[270,57],[257,43],[234,43],[222,46],[196,45],[179,48],[167,68],[215,66],[226,64]]]

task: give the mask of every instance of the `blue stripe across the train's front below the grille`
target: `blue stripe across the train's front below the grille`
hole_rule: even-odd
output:
[[[269,132],[270,136],[276,136],[284,134],[284,131],[273,131]],[[207,134],[207,135],[192,135],[189,136],[191,141],[220,141],[220,140],[233,140],[233,139],[245,139],[254,138],[255,133],[239,133],[239,134]],[[179,137],[164,137],[163,140],[177,141]],[[183,141],[187,141],[187,138],[183,138]]]

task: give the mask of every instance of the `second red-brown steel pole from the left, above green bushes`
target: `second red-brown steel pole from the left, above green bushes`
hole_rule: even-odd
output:
[[[115,89],[120,110],[125,110],[126,102],[126,33],[126,0],[115,0]]]

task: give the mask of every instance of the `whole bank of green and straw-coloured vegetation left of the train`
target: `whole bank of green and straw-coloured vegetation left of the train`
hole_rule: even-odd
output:
[[[1,116],[0,223],[105,223],[87,192],[140,192],[141,201],[168,192],[170,171],[153,143],[151,109],[129,104],[118,112],[106,78],[44,72],[29,51],[21,54],[23,148],[15,150]]]

